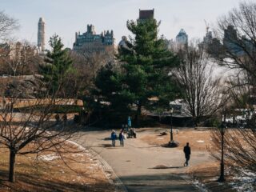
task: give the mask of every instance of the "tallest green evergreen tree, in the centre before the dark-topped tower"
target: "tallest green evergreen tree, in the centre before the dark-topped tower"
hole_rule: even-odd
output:
[[[135,120],[142,106],[150,107],[149,98],[157,97],[165,107],[174,98],[169,72],[178,60],[166,49],[164,38],[158,38],[159,25],[155,19],[128,21],[127,28],[134,38],[130,37],[117,55],[122,63],[122,94],[132,98],[130,104],[137,106]]]

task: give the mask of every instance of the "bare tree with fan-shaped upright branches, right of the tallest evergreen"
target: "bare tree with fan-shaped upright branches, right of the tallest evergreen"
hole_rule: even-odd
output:
[[[212,116],[221,106],[222,89],[220,78],[214,78],[214,62],[195,44],[198,43],[191,42],[178,50],[181,64],[172,73],[181,90],[185,112],[197,125],[200,118]]]

